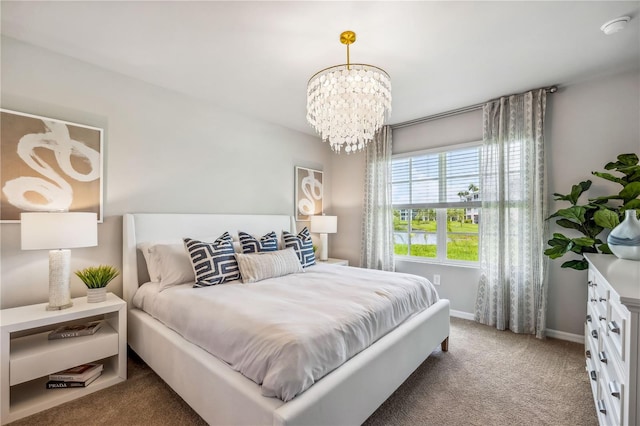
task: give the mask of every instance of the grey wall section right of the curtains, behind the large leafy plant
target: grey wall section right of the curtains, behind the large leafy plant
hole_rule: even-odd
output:
[[[604,165],[619,154],[635,152],[640,156],[640,72],[568,85],[549,101],[549,212],[569,205],[552,201],[554,192],[566,194],[583,180],[593,182],[583,202],[619,192],[621,186],[610,185],[591,172],[604,171]],[[552,222],[550,232],[566,230]],[[565,256],[550,262],[547,324],[551,329],[582,334],[587,273],[560,268],[569,259]]]

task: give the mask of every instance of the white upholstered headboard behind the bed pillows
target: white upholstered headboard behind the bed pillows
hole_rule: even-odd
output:
[[[287,215],[231,214],[125,214],[122,220],[122,293],[128,306],[138,286],[148,281],[149,274],[137,245],[184,237],[203,238],[229,232],[234,239],[238,231],[262,236],[275,231],[295,232],[296,224]]]

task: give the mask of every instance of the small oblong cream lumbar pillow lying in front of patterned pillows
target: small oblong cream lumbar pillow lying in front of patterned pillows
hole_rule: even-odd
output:
[[[267,253],[236,253],[236,260],[243,283],[302,272],[302,265],[293,248]]]

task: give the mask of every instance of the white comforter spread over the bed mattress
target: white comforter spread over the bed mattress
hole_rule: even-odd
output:
[[[133,303],[288,401],[437,300],[423,277],[316,265],[252,284],[148,283]]]

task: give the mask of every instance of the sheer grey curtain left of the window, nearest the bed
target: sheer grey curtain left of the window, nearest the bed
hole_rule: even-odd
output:
[[[362,218],[363,268],[393,271],[391,206],[391,127],[383,126],[365,148],[366,169]]]

